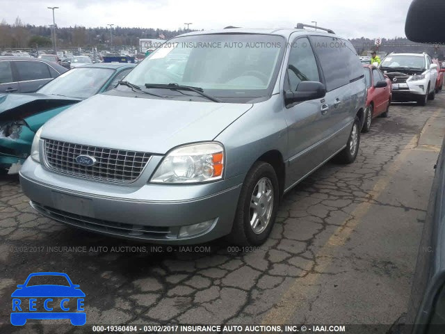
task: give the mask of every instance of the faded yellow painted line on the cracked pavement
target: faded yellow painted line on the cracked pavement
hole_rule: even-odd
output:
[[[440,111],[441,109],[437,109],[437,111],[435,111],[435,113],[430,117],[430,120],[436,118]],[[371,200],[377,199],[382,191],[386,189],[393,175],[401,168],[403,162],[407,158],[407,155],[410,154],[410,150],[416,148],[418,140],[419,135],[416,134],[416,136],[411,139],[410,143],[405,145],[402,152],[398,154],[398,157],[393,164],[389,166],[387,175],[378,180],[378,182],[373,186],[373,189],[369,191]],[[266,316],[262,321],[263,324],[289,323],[293,313],[296,312],[298,307],[300,307],[300,305],[298,305],[298,300],[301,299],[300,296],[302,296],[302,294],[305,292],[309,292],[309,289],[311,289],[311,287],[320,277],[320,273],[323,273],[323,271],[325,271],[325,269],[327,269],[327,267],[332,263],[332,260],[330,260],[332,248],[343,246],[346,243],[350,237],[350,234],[355,230],[360,220],[369,211],[370,207],[371,202],[362,202],[355,210],[353,210],[353,212],[350,213],[350,218],[343,221],[341,226],[337,228],[334,234],[331,235],[331,237],[315,255],[317,258],[325,257],[325,260],[317,265],[317,273],[310,273],[309,275],[305,276],[305,278],[296,278],[289,289],[284,292],[280,301],[278,301],[278,303],[268,313],[266,313]],[[305,271],[307,272],[312,271],[312,269],[312,264],[308,264],[307,267],[305,267]]]

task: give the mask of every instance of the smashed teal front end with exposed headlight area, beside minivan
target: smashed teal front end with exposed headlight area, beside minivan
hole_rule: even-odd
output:
[[[8,174],[19,173],[34,135],[24,120],[0,121],[0,168]]]

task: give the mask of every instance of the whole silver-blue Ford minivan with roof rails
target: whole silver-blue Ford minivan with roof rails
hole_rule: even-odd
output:
[[[168,40],[115,89],[38,131],[20,171],[31,206],[117,237],[262,244],[284,193],[359,150],[357,53],[303,27]]]

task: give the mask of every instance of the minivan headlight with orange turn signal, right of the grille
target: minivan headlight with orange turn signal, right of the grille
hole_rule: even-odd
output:
[[[224,148],[216,142],[182,146],[172,150],[151,182],[197,183],[220,180],[224,172]]]

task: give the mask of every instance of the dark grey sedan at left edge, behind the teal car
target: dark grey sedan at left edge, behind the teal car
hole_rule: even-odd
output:
[[[0,56],[0,93],[34,93],[65,72],[44,59]]]

